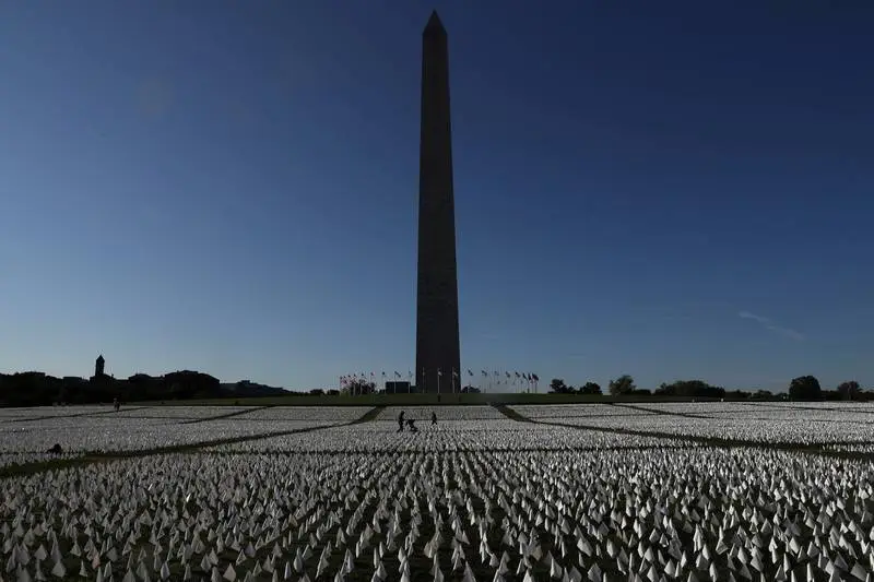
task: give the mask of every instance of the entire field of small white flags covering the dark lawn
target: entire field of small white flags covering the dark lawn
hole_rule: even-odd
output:
[[[867,581],[870,424],[764,402],[0,411],[0,579]]]

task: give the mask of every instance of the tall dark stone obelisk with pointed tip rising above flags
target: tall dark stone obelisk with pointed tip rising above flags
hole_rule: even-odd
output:
[[[456,203],[449,120],[449,49],[433,12],[422,33],[422,128],[418,161],[416,388],[460,389]],[[453,377],[458,373],[458,377]],[[438,376],[439,375],[439,376]]]

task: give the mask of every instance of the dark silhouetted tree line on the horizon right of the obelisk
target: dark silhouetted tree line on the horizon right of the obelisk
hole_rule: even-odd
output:
[[[874,400],[874,390],[862,390],[859,382],[848,380],[838,384],[835,390],[823,390],[819,380],[814,376],[800,376],[789,383],[786,396],[775,394],[768,390],[743,391],[725,390],[722,387],[711,385],[704,380],[677,380],[672,383],[662,382],[654,391],[639,389],[631,376],[625,373],[611,380],[607,384],[611,396],[675,396],[700,399],[779,399],[788,396],[791,400]],[[601,385],[595,382],[586,382],[579,388],[568,385],[562,378],[554,378],[550,382],[551,394],[603,394]]]

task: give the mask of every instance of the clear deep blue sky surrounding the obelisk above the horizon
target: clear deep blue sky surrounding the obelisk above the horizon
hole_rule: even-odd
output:
[[[3,2],[0,370],[410,369],[436,8],[463,368],[874,387],[874,7],[731,4]]]

